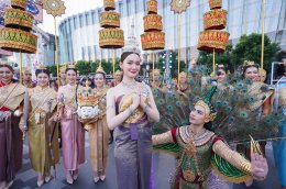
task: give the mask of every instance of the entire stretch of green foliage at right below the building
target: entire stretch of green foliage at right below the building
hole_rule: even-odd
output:
[[[216,64],[223,64],[231,71],[243,65],[244,60],[254,60],[261,64],[261,34],[242,35],[234,47],[230,44],[224,52],[216,53]],[[272,43],[270,37],[265,35],[264,69],[271,70],[271,64],[275,60],[275,55],[279,51],[278,44]],[[198,64],[208,65],[212,68],[212,52],[200,52]]]

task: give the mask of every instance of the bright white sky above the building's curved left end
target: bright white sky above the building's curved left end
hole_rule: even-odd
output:
[[[91,9],[96,9],[97,7],[103,5],[103,0],[63,0],[66,5],[66,13],[62,15],[62,18],[57,18],[57,25],[61,20],[80,13],[85,11],[89,11]],[[43,24],[38,24],[38,26],[48,33],[54,33],[54,18],[52,15],[46,14],[44,11],[44,21]]]

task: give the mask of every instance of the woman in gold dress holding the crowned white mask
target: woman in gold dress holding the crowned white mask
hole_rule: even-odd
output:
[[[101,67],[97,69],[94,80],[96,84],[95,89],[91,89],[88,84],[78,89],[78,105],[84,108],[92,107],[92,110],[95,110],[88,119],[81,118],[80,113],[79,120],[88,131],[94,181],[98,182],[99,180],[106,180],[109,142],[109,129],[106,118],[106,96],[108,88],[106,87],[106,74]],[[86,81],[88,82],[88,80]]]

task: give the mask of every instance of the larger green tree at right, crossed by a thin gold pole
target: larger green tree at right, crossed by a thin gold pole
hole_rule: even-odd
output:
[[[232,63],[242,65],[244,60],[253,60],[261,64],[261,45],[262,35],[253,33],[251,35],[242,35],[240,42],[232,51]],[[275,59],[276,53],[280,51],[277,43],[272,43],[270,37],[265,35],[264,41],[264,69],[271,70],[272,62]]]

